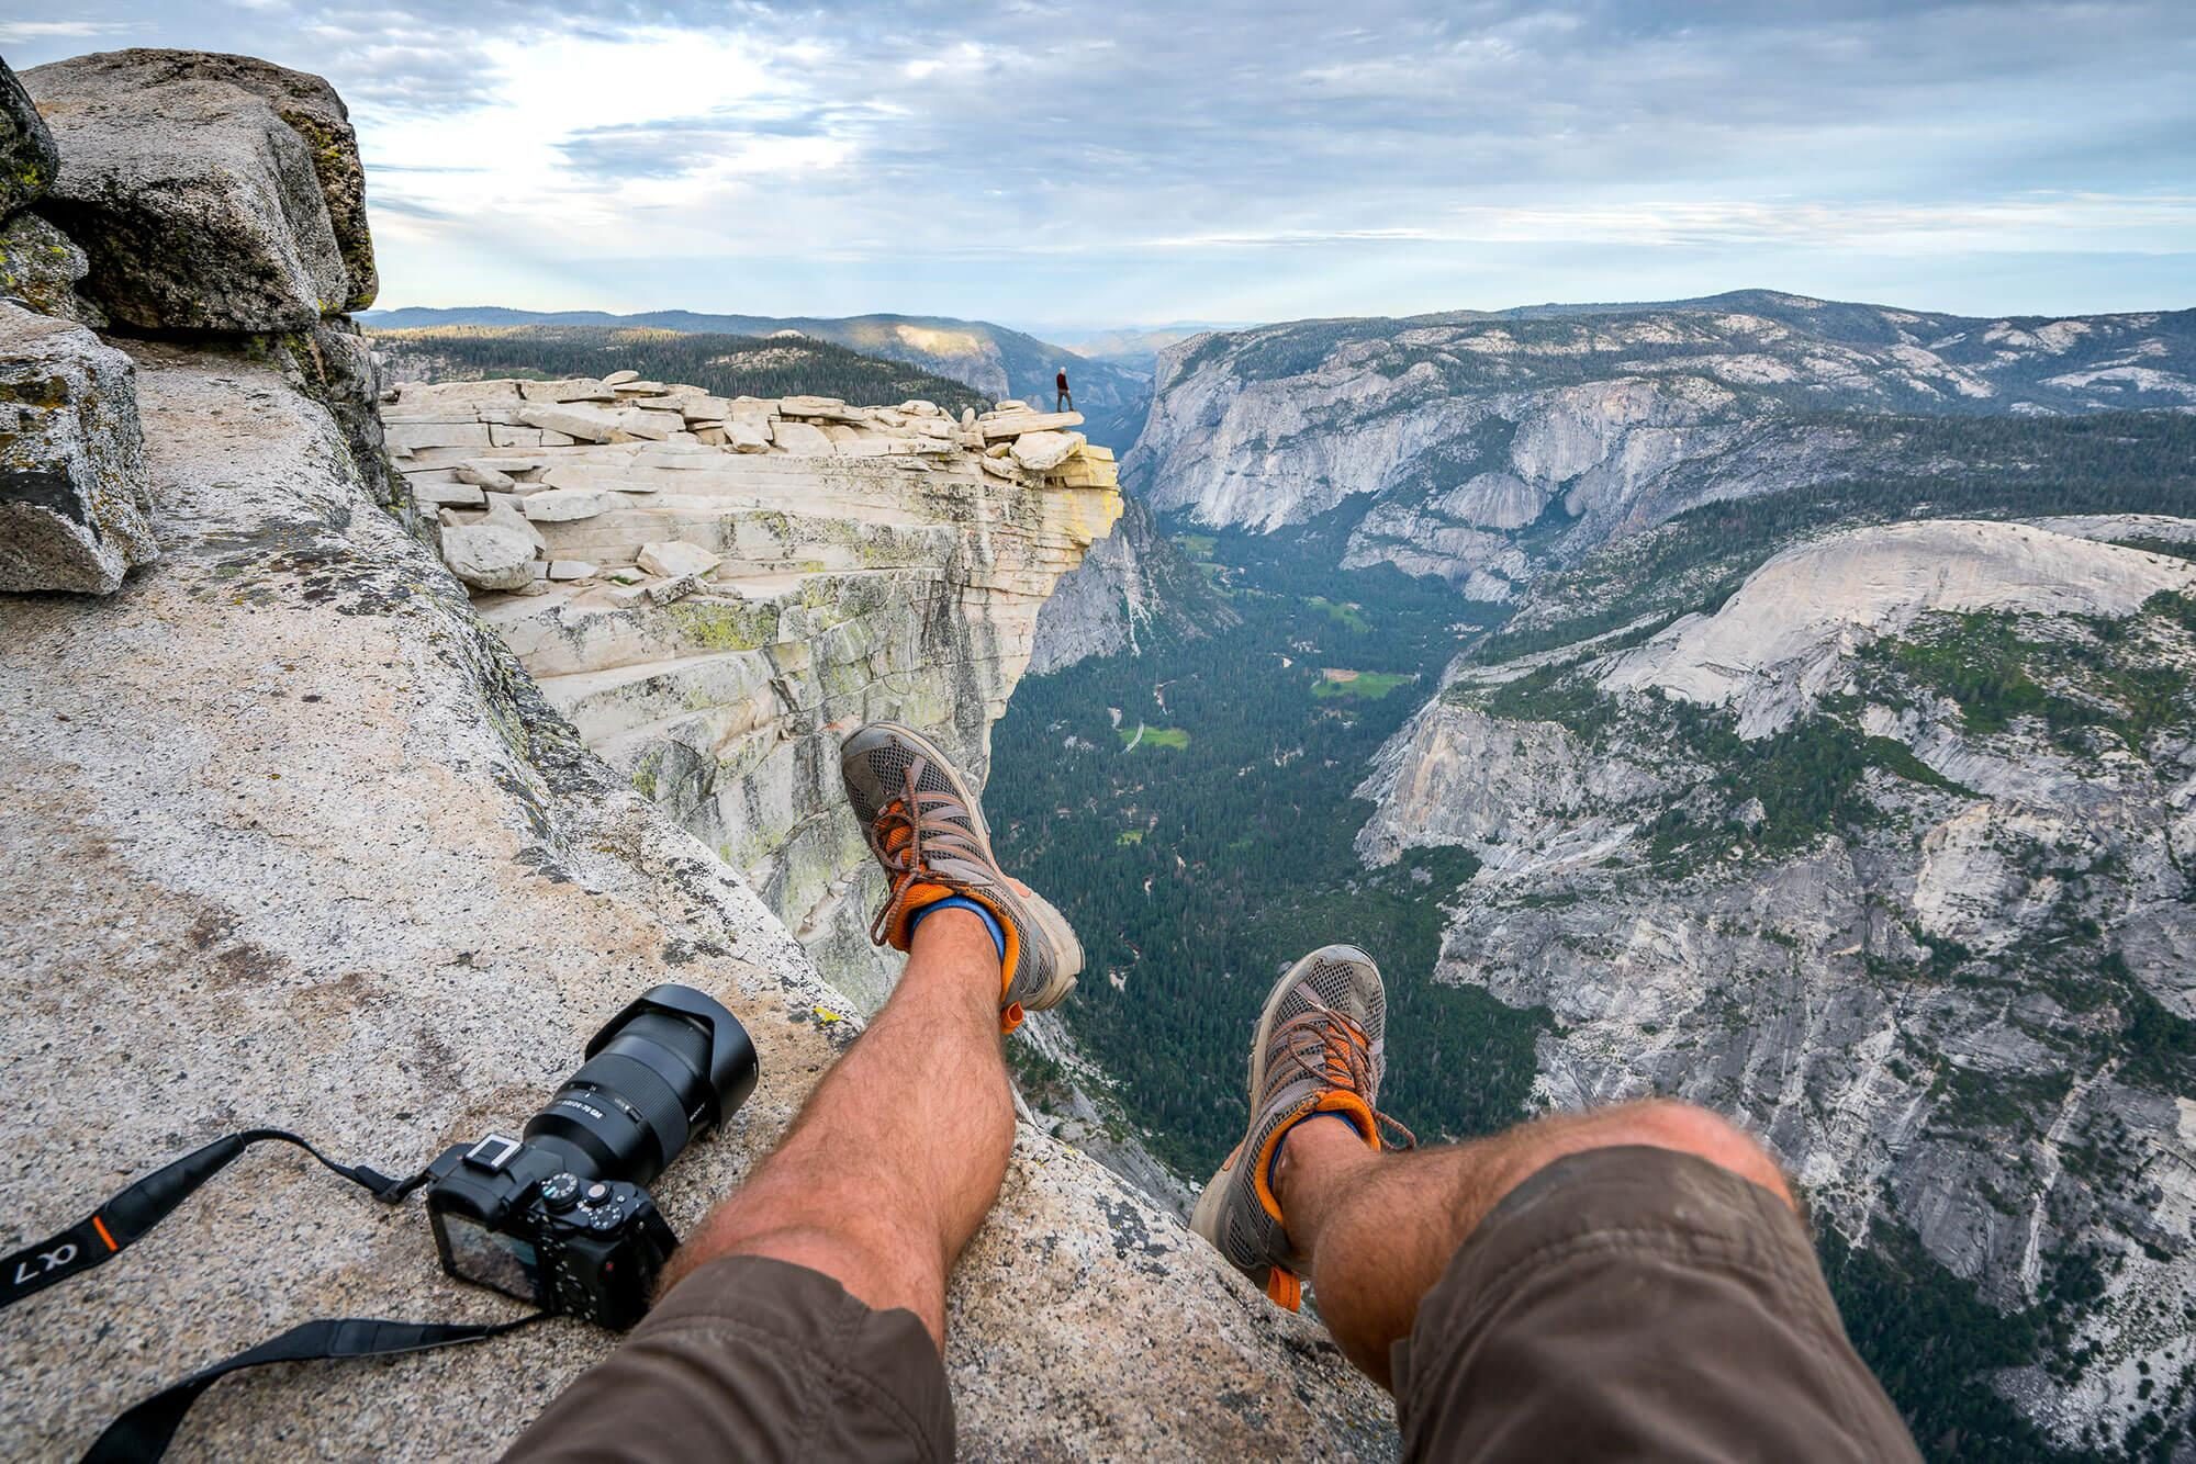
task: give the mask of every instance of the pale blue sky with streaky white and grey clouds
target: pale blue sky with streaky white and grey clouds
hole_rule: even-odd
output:
[[[384,307],[2196,305],[2189,0],[0,0],[121,46],[334,81]]]

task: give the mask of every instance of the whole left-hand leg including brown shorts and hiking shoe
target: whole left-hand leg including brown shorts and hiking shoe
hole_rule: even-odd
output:
[[[665,1297],[516,1457],[953,1455],[946,1275],[1015,1146],[1001,1029],[1061,1003],[1083,944],[999,869],[975,790],[922,733],[839,748],[907,968],[777,1148],[665,1271]],[[780,1264],[740,1266],[740,1258]],[[839,1288],[826,1284],[830,1277]]]

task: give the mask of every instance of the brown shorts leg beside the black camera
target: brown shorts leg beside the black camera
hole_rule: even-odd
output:
[[[505,1457],[942,1464],[953,1400],[911,1310],[870,1310],[808,1266],[729,1255],[672,1286]]]

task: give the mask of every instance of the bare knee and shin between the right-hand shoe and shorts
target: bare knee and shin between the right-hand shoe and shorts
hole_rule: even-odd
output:
[[[1280,1144],[1274,1196],[1289,1240],[1311,1255],[1311,1288],[1335,1345],[1392,1389],[1388,1348],[1410,1335],[1419,1297],[1487,1212],[1557,1159],[1621,1144],[1698,1155],[1799,1207],[1755,1139],[1669,1100],[1546,1117],[1419,1152],[1375,1152],[1348,1124],[1304,1122]]]

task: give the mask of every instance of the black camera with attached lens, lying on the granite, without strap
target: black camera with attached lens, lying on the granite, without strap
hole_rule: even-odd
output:
[[[428,1165],[441,1269],[545,1310],[626,1330],[679,1247],[646,1185],[755,1091],[747,1029],[690,986],[657,986],[586,1045],[518,1139],[490,1133]]]

